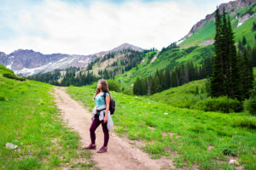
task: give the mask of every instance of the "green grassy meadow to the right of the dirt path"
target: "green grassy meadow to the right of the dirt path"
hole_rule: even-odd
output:
[[[93,86],[69,87],[67,93],[91,111],[95,90]],[[115,132],[143,140],[142,150],[153,158],[170,156],[177,167],[186,169],[234,169],[228,159],[236,156],[245,169],[256,168],[254,116],[181,109],[146,97],[111,94],[116,101]]]

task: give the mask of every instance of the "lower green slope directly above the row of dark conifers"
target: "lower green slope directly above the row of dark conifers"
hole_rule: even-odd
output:
[[[146,65],[144,62],[137,65],[137,68],[132,68],[130,71],[120,74],[115,77],[123,87],[131,88],[131,84],[135,82],[137,77],[148,77],[154,75],[157,69],[164,69],[166,65],[185,64],[189,60],[193,60],[196,64],[200,65],[201,62],[214,54],[213,46],[207,47],[191,47],[191,48],[172,48],[159,54],[153,63]],[[147,55],[146,55],[147,56]],[[146,59],[145,59],[146,60]]]

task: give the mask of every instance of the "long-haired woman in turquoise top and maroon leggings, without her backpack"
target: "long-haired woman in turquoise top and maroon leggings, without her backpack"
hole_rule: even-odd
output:
[[[105,94],[105,96],[104,96]],[[97,153],[106,152],[108,150],[108,139],[109,133],[113,126],[113,121],[110,116],[109,103],[110,103],[110,93],[108,90],[108,82],[104,79],[101,79],[97,83],[96,93],[94,95],[94,100],[96,101],[96,106],[93,109],[93,116],[91,117],[90,125],[90,140],[91,143],[85,147],[86,150],[96,150],[96,128],[102,124],[102,130],[104,133],[104,144]]]

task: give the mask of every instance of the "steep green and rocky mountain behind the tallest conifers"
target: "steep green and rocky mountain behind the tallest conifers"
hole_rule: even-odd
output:
[[[253,21],[256,19],[255,0],[230,1],[230,3],[220,4],[218,8],[220,14],[223,13],[223,9],[225,8],[226,13],[230,15],[232,26],[236,33],[236,40],[241,39],[241,35],[245,33],[245,31],[240,31],[242,29],[239,27],[244,25],[246,21],[249,22],[247,23],[248,25],[252,25]],[[213,37],[215,35],[214,17],[215,11],[212,14],[207,14],[206,18],[200,20],[194,26],[192,26],[189,33],[181,38],[177,44],[183,48],[188,48],[195,45],[211,45],[214,42]]]

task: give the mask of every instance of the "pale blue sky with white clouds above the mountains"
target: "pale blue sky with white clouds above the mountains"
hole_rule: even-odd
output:
[[[161,49],[230,0],[0,0],[0,51],[95,54]]]

